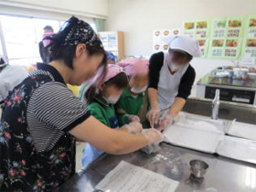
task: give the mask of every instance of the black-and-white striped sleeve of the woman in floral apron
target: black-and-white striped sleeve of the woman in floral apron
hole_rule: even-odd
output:
[[[58,82],[41,85],[32,94],[29,105],[38,121],[66,132],[90,117],[86,106]]]

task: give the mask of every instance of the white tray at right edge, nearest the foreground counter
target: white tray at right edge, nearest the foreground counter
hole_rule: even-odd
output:
[[[217,153],[234,160],[256,164],[256,142],[247,139],[225,136]]]

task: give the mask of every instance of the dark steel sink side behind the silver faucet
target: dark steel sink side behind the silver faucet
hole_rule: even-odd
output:
[[[212,100],[189,98],[183,111],[211,117]],[[218,118],[228,120],[236,119],[239,122],[256,125],[256,106],[221,101]]]

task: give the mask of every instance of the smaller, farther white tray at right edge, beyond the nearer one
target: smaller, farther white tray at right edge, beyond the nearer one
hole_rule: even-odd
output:
[[[256,125],[235,122],[227,132],[230,136],[247,138],[256,141]]]

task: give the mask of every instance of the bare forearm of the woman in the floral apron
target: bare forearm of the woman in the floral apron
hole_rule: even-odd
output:
[[[90,143],[108,154],[131,153],[148,144],[147,138],[143,135],[110,129],[93,116],[84,120],[82,124],[73,128],[69,133],[77,137],[79,141]]]

